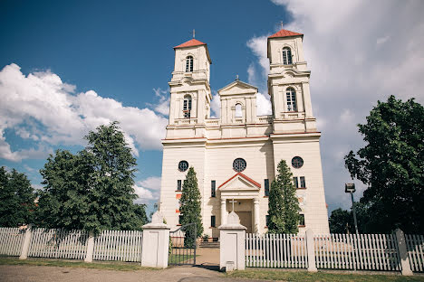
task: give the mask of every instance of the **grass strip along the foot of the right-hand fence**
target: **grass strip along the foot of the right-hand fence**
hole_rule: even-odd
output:
[[[365,274],[340,274],[330,272],[311,273],[301,270],[262,270],[248,269],[236,270],[228,273],[226,277],[230,278],[250,278],[250,279],[265,279],[265,280],[283,280],[283,281],[323,281],[323,282],[379,282],[379,281],[424,281],[424,277],[402,277],[400,275],[365,275]]]

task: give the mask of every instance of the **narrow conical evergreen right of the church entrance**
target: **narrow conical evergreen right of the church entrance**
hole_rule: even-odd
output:
[[[297,233],[301,209],[292,183],[293,174],[284,160],[278,164],[277,172],[269,192],[268,232]]]

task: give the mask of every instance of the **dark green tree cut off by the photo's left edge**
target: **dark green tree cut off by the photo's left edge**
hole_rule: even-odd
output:
[[[35,193],[25,174],[0,167],[0,226],[17,227],[34,221]]]

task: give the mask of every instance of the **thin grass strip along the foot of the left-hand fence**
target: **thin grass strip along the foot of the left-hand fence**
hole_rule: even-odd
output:
[[[9,266],[43,266],[43,267],[62,267],[62,268],[96,268],[119,271],[153,270],[157,268],[143,268],[140,264],[129,262],[92,262],[86,263],[81,260],[63,260],[63,259],[26,259],[18,258],[0,258],[0,265]]]

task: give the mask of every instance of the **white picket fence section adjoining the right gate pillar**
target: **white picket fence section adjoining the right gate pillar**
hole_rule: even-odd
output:
[[[304,235],[246,234],[246,267],[306,268]]]

